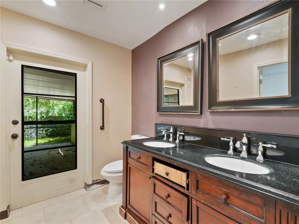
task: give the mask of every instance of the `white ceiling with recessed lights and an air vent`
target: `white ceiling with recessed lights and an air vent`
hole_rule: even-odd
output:
[[[2,7],[133,49],[207,0],[99,1],[99,11],[83,0],[59,0],[48,6],[41,0],[1,0]],[[165,3],[161,10],[159,4]]]

